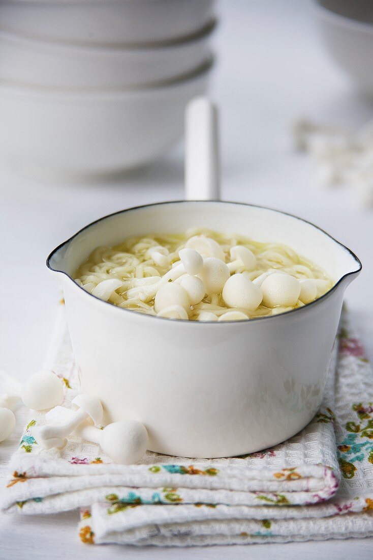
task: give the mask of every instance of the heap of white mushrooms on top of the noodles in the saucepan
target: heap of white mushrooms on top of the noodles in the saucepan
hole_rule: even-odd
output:
[[[173,260],[167,248],[152,245],[145,259],[153,259],[164,269],[162,275],[130,281],[106,279],[91,293],[107,301],[130,282],[125,291],[127,300],[151,306],[152,314],[158,317],[237,321],[249,319],[259,307],[263,315],[275,315],[308,304],[330,287],[327,280],[296,278],[278,266],[263,271],[263,263],[260,265],[244,245],[224,251],[205,235],[187,239],[176,255],[177,260]],[[87,289],[87,285],[83,287]]]

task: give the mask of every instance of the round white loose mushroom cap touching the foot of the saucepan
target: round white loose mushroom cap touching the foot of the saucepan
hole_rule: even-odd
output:
[[[148,447],[148,432],[136,420],[113,422],[103,428],[100,445],[114,463],[138,463]]]

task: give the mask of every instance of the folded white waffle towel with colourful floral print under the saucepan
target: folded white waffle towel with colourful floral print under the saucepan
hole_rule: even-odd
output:
[[[373,535],[373,379],[348,315],[334,345],[322,408],[298,435],[239,458],[192,460],[148,452],[116,465],[100,447],[69,438],[40,450],[36,413],[12,457],[2,508],[19,514],[81,509],[85,543],[207,545]],[[339,344],[338,344],[339,343]],[[338,351],[339,347],[339,351]],[[78,391],[61,306],[45,367]],[[289,410],[309,400],[289,381]],[[162,403],[160,403],[162,405]]]

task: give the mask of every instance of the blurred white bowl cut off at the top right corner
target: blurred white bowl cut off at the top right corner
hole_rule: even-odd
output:
[[[367,0],[317,0],[315,16],[330,56],[352,80],[373,92],[373,6]]]

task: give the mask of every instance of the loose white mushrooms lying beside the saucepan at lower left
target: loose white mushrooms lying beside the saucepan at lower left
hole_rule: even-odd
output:
[[[2,384],[7,392],[0,394],[0,442],[15,430],[14,412],[23,403],[37,412],[48,410],[45,426],[34,428],[41,449],[63,449],[67,438],[73,435],[100,445],[114,463],[137,463],[147,450],[148,432],[138,421],[95,427],[103,419],[102,404],[95,396],[75,396],[72,400],[74,410],[60,406],[64,396],[63,381],[53,371],[37,371],[23,386],[2,375]]]

